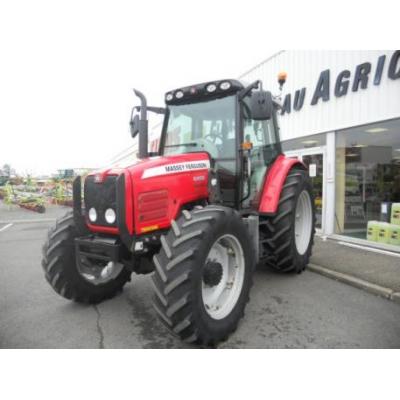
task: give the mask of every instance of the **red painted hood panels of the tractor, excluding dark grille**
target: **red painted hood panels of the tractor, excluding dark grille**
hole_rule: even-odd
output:
[[[125,174],[126,224],[130,234],[167,229],[171,219],[184,204],[205,199],[208,196],[208,153],[186,153],[166,157],[149,157],[138,160],[126,168],[107,168],[93,172],[95,181],[101,183],[107,175]],[[179,179],[176,179],[180,175]],[[149,193],[163,192],[167,202],[164,209],[159,205],[146,210],[145,197]],[[143,206],[144,204],[144,206]],[[151,204],[150,204],[151,206]],[[136,210],[136,218],[134,217]],[[150,218],[154,213],[160,216]],[[117,234],[117,228],[98,227],[88,224],[93,232]]]

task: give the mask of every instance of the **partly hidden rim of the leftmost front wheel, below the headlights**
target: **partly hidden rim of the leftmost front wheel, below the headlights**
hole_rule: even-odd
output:
[[[110,282],[120,274],[123,268],[123,264],[114,261],[96,261],[88,257],[81,257],[78,263],[80,275],[93,285]]]

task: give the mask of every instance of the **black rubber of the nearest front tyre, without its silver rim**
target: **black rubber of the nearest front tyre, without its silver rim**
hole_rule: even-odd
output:
[[[230,313],[212,318],[202,298],[205,262],[210,248],[223,235],[240,243],[244,255],[244,279],[240,295]],[[221,206],[184,210],[162,237],[160,253],[154,256],[153,305],[164,324],[188,343],[205,346],[226,340],[244,315],[252,285],[254,250],[240,215]]]

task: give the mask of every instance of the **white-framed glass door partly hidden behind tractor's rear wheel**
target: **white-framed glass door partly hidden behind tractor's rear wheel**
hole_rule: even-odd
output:
[[[325,222],[325,147],[315,147],[312,149],[302,149],[298,151],[286,152],[288,157],[297,157],[308,168],[314,192],[315,213],[317,230],[324,230]]]

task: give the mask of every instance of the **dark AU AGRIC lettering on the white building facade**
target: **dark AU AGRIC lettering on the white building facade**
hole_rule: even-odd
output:
[[[400,50],[396,50],[389,62],[387,77],[391,80],[400,78]],[[288,93],[283,101],[281,114],[290,114],[292,109],[300,111],[306,101],[310,101],[310,105],[314,106],[320,101],[329,101],[331,97],[331,86],[335,97],[346,96],[349,90],[358,92],[359,89],[367,89],[368,85],[379,86],[383,77],[383,68],[386,64],[386,55],[380,56],[374,68],[372,63],[365,62],[356,66],[354,75],[351,71],[345,69],[336,77],[331,76],[330,69],[322,71],[319,75],[318,82],[313,88],[311,99],[307,96],[307,88],[303,87],[296,90],[292,98],[292,94]],[[372,83],[371,83],[372,82]]]

